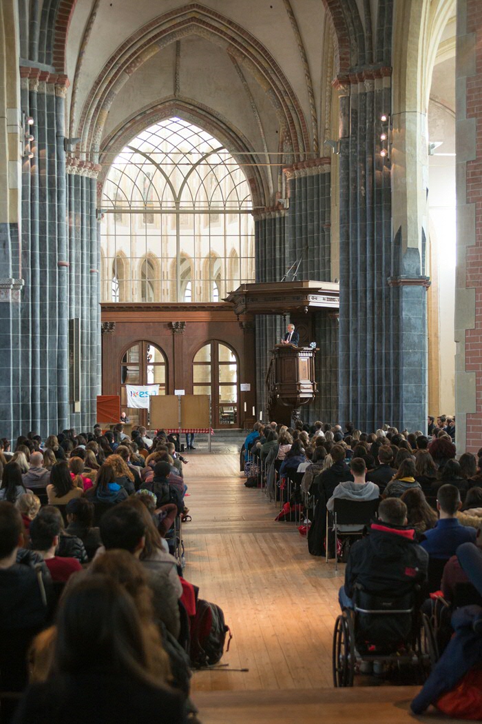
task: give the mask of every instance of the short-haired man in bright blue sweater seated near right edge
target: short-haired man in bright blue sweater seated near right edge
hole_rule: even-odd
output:
[[[460,490],[455,485],[439,487],[436,507],[439,511],[439,522],[435,528],[425,531],[421,547],[431,558],[449,560],[462,543],[475,543],[477,531],[472,526],[462,526],[457,518],[462,502]]]

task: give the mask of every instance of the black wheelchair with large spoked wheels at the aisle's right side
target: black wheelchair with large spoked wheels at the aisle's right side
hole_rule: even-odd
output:
[[[353,594],[353,609],[345,608],[335,622],[332,647],[333,684],[353,686],[363,664],[378,662],[388,673],[413,668],[423,683],[439,658],[429,618],[421,612],[417,591],[397,599],[366,592]]]

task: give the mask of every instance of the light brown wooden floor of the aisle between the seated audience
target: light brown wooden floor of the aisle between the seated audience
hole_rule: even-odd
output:
[[[184,575],[223,608],[233,633],[228,667],[192,680],[203,724],[310,724],[320,712],[325,723],[413,721],[417,689],[333,689],[344,566],[335,573],[334,563],[309,555],[294,523],[275,522],[278,508],[244,487],[238,455],[191,455],[184,479],[192,515],[183,526]]]

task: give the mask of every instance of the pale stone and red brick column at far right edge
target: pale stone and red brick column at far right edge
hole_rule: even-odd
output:
[[[457,268],[455,430],[457,452],[482,438],[482,5],[457,1]]]

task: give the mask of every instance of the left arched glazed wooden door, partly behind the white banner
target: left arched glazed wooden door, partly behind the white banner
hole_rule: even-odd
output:
[[[133,425],[149,428],[149,411],[127,407],[126,384],[158,384],[159,394],[167,395],[167,366],[163,351],[152,342],[141,340],[121,357],[121,411]]]

